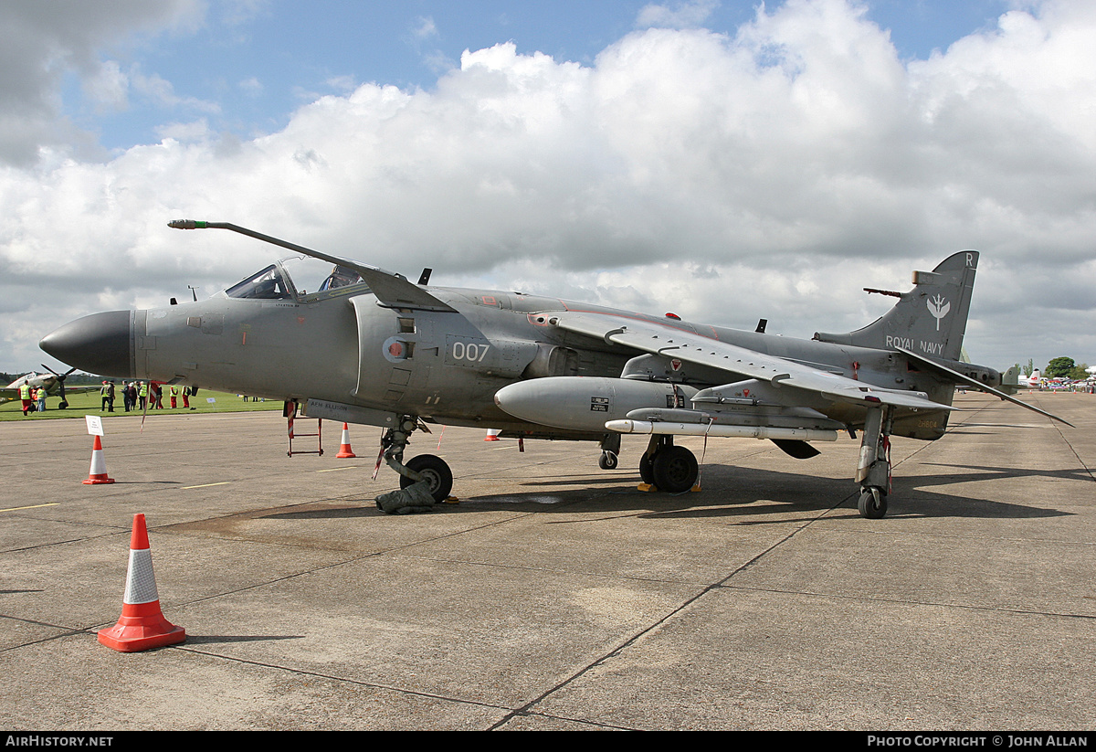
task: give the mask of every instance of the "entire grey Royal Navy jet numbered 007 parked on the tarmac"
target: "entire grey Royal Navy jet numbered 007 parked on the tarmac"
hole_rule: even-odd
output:
[[[278,262],[207,300],[87,316],[42,349],[90,373],[258,395],[285,400],[287,414],[386,428],[384,455],[401,487],[432,500],[449,494],[449,467],[433,455],[403,462],[409,437],[429,424],[596,441],[603,468],[616,467],[623,434],[643,434],[640,475],[671,493],[698,478],[696,457],[674,436],[768,438],[806,458],[819,454],[812,442],[858,431],[859,511],[878,519],[890,490],[889,436],[943,436],[957,385],[1054,418],[1006,394],[1014,385],[993,368],[959,361],[977,251],[914,272],[911,292],[869,290],[899,300],[863,329],[797,340],[766,334],[764,322],[739,331],[430,287],[429,270],[414,284],[227,223],[169,226],[233,230],[333,270],[307,293]]]

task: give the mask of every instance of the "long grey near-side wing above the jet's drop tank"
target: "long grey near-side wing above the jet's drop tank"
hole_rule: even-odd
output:
[[[718,368],[728,374],[728,383],[755,378],[780,389],[811,392],[829,400],[863,407],[882,403],[911,410],[955,409],[934,402],[924,392],[883,389],[673,326],[659,326],[620,316],[580,312],[552,315],[550,322],[566,331],[607,343]],[[792,401],[789,400],[789,403]]]

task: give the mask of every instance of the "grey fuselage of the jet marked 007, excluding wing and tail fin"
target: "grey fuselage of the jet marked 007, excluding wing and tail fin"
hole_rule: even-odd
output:
[[[911,368],[893,351],[500,290],[431,287],[430,294],[453,311],[397,309],[378,305],[367,288],[356,287],[277,298],[238,297],[230,288],[203,301],[128,311],[127,320],[123,311],[96,315],[109,320],[114,332],[113,344],[100,352],[113,352],[115,362],[110,368],[96,363],[100,367],[90,369],[271,399],[329,400],[438,423],[593,438],[545,431],[501,411],[493,400],[499,389],[523,379],[621,375],[635,352],[549,323],[552,312],[581,311],[657,323],[872,386],[924,391],[941,405],[951,402],[951,383]],[[56,342],[64,330],[50,338]],[[100,332],[100,339],[106,337]],[[122,337],[128,347],[116,341]],[[48,340],[43,343],[47,350]],[[674,380],[703,388],[726,384],[728,374],[684,367]],[[811,407],[849,428],[864,420],[863,410],[853,405],[819,399]],[[894,433],[936,438],[946,426],[946,414],[900,414]]]

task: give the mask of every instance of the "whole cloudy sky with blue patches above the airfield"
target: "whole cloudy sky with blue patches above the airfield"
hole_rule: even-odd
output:
[[[0,0],[0,371],[277,249],[810,337],[982,251],[966,346],[1096,363],[1091,0]]]

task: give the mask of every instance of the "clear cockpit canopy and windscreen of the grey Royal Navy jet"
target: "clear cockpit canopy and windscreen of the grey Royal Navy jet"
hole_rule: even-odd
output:
[[[308,257],[290,257],[238,282],[226,289],[225,295],[230,298],[313,303],[368,292],[362,275],[353,269],[332,266]]]

